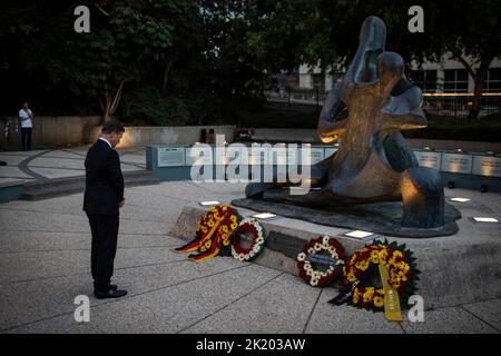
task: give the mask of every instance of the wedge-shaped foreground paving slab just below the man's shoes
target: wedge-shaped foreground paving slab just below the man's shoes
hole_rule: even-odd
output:
[[[238,300],[279,275],[276,270],[239,267],[91,308],[91,323],[66,314],[12,330],[16,333],[176,333]],[[224,293],[222,293],[224,290]]]

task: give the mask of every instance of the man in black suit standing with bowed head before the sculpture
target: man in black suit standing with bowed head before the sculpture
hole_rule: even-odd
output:
[[[116,285],[111,285],[117,251],[118,210],[125,204],[120,158],[114,147],[120,142],[124,132],[124,126],[117,120],[105,123],[102,135],[86,157],[84,210],[92,234],[90,267],[94,295],[98,299],[119,298],[127,294],[127,290],[119,290]]]

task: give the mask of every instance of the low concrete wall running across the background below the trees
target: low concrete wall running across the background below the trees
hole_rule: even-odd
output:
[[[36,117],[32,134],[33,144],[82,145],[96,141],[100,134],[98,116]],[[10,119],[9,136],[4,135],[6,122],[0,121],[0,144],[20,142],[19,120]],[[233,141],[234,126],[179,126],[179,127],[126,127],[126,134],[119,147],[139,147],[146,145],[191,145],[200,141],[202,129],[214,129],[216,135],[225,135],[227,142]],[[321,144],[315,129],[252,129],[253,140],[272,142]],[[430,147],[441,150],[471,152],[501,152],[501,142],[446,141],[428,139],[407,139],[413,148]]]

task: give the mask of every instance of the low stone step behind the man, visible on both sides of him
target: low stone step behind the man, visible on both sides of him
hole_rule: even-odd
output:
[[[151,172],[148,170],[124,172],[124,181],[126,187],[150,186],[160,182],[160,180],[153,177]],[[35,181],[24,185],[19,199],[32,201],[61,197],[82,192],[85,187],[85,176]]]

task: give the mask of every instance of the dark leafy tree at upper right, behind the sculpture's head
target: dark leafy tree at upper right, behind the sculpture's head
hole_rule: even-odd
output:
[[[407,11],[415,4],[424,10],[423,33],[411,33],[407,29],[411,19]],[[479,115],[492,59],[501,57],[498,0],[282,0],[271,1],[267,11],[259,19],[258,30],[247,34],[249,48],[255,49],[267,68],[275,71],[289,68],[292,63],[283,57],[294,60],[295,66],[303,62],[320,65],[323,70],[343,68],[356,49],[362,22],[373,14],[386,23],[386,50],[402,55],[407,65],[412,60],[423,62],[452,56],[465,67],[474,81],[470,118]]]

